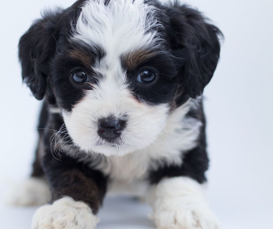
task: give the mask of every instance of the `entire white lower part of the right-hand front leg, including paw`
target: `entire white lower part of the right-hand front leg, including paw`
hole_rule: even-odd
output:
[[[218,229],[202,185],[187,177],[163,179],[148,197],[158,229]]]

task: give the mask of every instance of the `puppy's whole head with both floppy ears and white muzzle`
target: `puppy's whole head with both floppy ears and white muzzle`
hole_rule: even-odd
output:
[[[150,145],[216,68],[220,31],[186,6],[77,1],[21,37],[22,75],[60,107],[80,149],[123,155]]]

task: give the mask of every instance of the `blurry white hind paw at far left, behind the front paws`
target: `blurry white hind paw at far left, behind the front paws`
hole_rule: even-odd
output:
[[[42,178],[29,178],[13,188],[7,197],[10,205],[27,206],[48,203],[51,198],[49,185]]]

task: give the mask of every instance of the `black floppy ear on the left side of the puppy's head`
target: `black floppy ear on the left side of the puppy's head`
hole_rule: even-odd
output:
[[[56,51],[55,27],[60,17],[58,12],[47,12],[34,22],[19,41],[19,60],[24,82],[36,99],[41,100],[46,92],[46,76],[49,61]]]

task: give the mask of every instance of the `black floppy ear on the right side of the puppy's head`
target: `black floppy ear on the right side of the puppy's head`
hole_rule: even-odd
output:
[[[203,93],[216,69],[221,31],[202,14],[177,3],[167,9],[169,37],[179,71],[179,93],[195,98]]]

